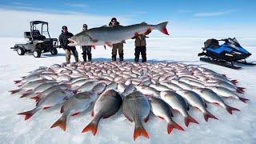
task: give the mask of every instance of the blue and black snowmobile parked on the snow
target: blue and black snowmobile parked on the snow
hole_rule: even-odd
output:
[[[219,46],[219,41],[224,43]],[[234,62],[245,65],[256,65],[253,62],[246,62],[246,58],[250,57],[250,53],[242,48],[236,38],[227,39],[208,39],[204,42],[205,47],[202,47],[202,53],[198,56],[203,62],[210,62],[219,66],[226,66],[231,69],[238,70],[240,66],[234,66]]]

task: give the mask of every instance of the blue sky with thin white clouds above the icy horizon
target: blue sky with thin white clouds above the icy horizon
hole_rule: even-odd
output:
[[[256,1],[248,0],[100,0],[100,1],[1,1],[0,37],[23,37],[29,22],[49,22],[58,37],[66,25],[77,34],[86,23],[103,26],[116,17],[123,25],[168,21],[171,37],[256,37]],[[166,37],[158,31],[151,37]]]

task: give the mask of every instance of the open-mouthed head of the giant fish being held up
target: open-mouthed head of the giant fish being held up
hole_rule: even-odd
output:
[[[90,46],[91,38],[88,34],[81,32],[79,34],[75,34],[73,37],[68,39],[70,43],[68,46]]]

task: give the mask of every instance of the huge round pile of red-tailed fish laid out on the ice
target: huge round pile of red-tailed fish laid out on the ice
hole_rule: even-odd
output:
[[[39,67],[22,80],[14,81],[21,98],[36,101],[33,110],[19,113],[25,120],[38,110],[61,106],[62,117],[51,128],[66,130],[68,116],[92,110],[92,120],[82,133],[97,133],[98,122],[122,110],[130,122],[134,122],[134,140],[139,136],[150,138],[143,127],[150,112],[167,122],[167,132],[184,129],[174,122],[173,111],[184,117],[186,126],[198,124],[190,116],[190,106],[209,118],[218,120],[207,110],[207,103],[222,106],[229,114],[237,108],[228,106],[223,98],[234,98],[241,102],[244,88],[236,80],[224,74],[200,66],[182,63],[134,63],[134,62],[78,62],[50,67]]]

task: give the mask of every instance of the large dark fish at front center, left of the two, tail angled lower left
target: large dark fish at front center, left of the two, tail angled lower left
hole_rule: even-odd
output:
[[[91,131],[92,134],[95,135],[97,133],[98,122],[102,118],[109,118],[114,115],[118,112],[121,105],[122,98],[115,90],[107,90],[105,93],[100,95],[94,104],[94,110],[92,112],[94,118],[90,124],[82,130],[82,133]]]

